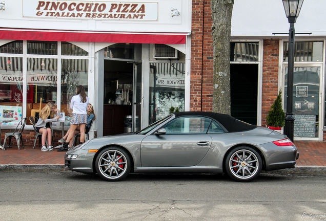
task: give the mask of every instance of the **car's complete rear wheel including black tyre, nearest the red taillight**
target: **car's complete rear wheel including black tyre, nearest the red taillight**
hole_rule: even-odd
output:
[[[248,182],[257,178],[262,161],[259,153],[251,147],[236,147],[229,152],[225,161],[227,174],[231,179]]]

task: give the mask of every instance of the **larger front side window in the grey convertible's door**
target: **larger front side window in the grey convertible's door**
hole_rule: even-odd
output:
[[[166,135],[206,134],[211,119],[203,117],[180,117],[165,125]]]

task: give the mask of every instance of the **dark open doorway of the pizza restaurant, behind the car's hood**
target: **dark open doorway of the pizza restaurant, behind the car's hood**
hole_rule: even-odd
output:
[[[133,62],[104,61],[103,136],[131,132],[133,72]]]

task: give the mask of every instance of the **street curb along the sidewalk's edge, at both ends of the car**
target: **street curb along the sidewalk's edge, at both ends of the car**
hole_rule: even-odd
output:
[[[70,171],[64,164],[5,164],[0,165],[0,172],[64,172]],[[326,174],[326,166],[296,166],[292,169],[262,171],[267,174]]]

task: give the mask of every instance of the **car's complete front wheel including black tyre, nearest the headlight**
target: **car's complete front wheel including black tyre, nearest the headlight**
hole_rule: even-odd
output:
[[[120,181],[128,175],[131,160],[124,149],[107,147],[98,154],[95,167],[101,178],[107,181]]]

